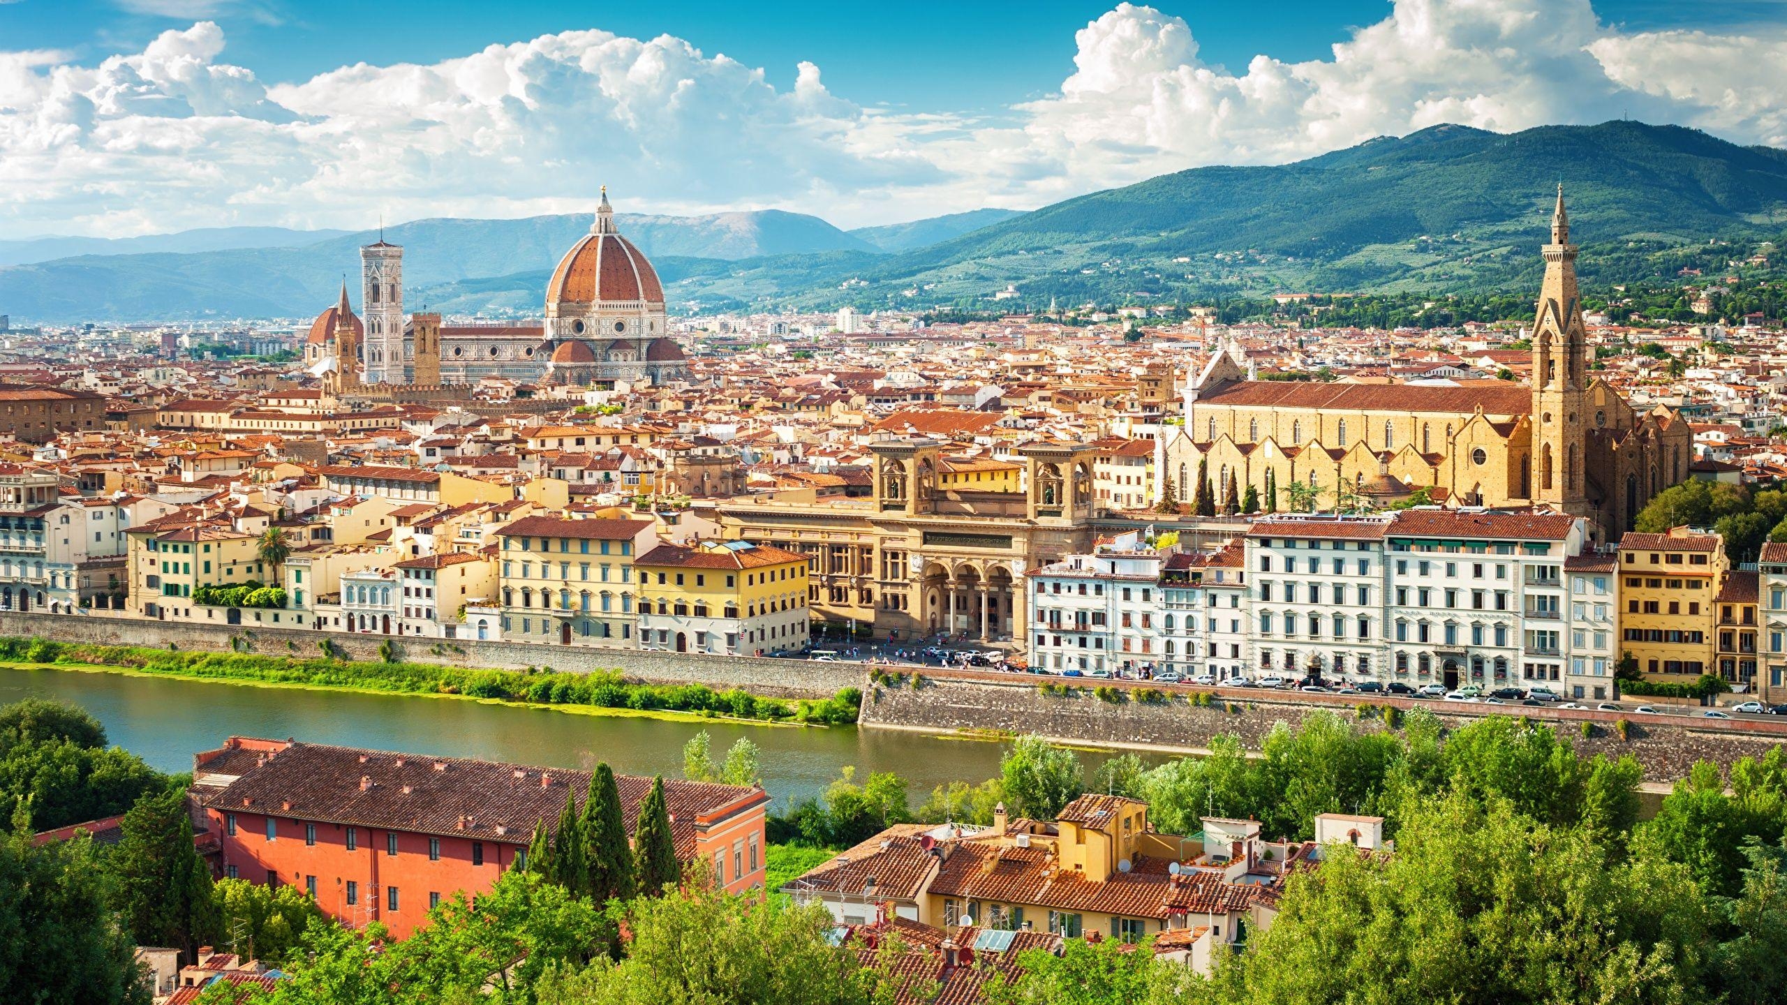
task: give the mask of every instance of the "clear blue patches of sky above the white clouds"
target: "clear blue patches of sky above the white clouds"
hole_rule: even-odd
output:
[[[293,82],[345,63],[432,63],[490,43],[568,29],[633,38],[672,34],[704,52],[793,80],[802,59],[860,104],[917,109],[999,109],[1056,88],[1072,72],[1074,30],[1106,13],[1101,2],[593,4],[586,0],[0,0],[5,48],[61,48],[98,61],[141,48],[195,18],[218,21],[231,59],[263,80]],[[1254,54],[1326,55],[1347,29],[1381,20],[1387,0],[1158,2],[1185,18],[1201,55],[1238,70]],[[1787,20],[1787,0],[1599,0],[1596,13],[1633,30],[1732,29]],[[143,13],[164,11],[164,13]],[[1265,14],[1265,16],[1262,16]]]

